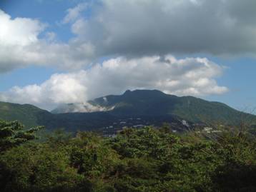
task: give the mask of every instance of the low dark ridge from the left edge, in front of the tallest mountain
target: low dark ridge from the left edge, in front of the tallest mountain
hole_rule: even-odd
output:
[[[124,126],[141,127],[144,125],[160,126],[169,122],[177,126],[179,131],[187,126],[174,116],[123,116],[104,111],[91,113],[49,113],[29,104],[0,102],[0,119],[6,121],[18,120],[26,128],[45,126],[48,130],[65,128],[67,131],[99,131],[104,134],[116,133]]]

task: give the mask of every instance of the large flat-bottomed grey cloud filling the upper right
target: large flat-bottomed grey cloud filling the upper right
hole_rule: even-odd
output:
[[[72,31],[99,56],[255,55],[255,7],[255,0],[102,0]]]

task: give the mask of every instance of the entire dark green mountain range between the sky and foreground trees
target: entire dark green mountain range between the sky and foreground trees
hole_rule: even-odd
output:
[[[86,103],[69,103],[51,111],[25,104],[0,102],[0,118],[19,120],[26,126],[79,130],[117,130],[124,126],[172,123],[229,124],[256,122],[256,116],[237,111],[224,103],[193,96],[173,96],[157,90],[125,91],[120,96],[104,96]],[[111,131],[110,131],[111,132]]]

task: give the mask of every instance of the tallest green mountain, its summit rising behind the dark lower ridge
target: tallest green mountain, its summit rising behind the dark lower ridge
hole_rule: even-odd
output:
[[[109,114],[122,116],[172,115],[195,123],[237,124],[241,121],[255,121],[256,116],[237,111],[224,103],[205,101],[193,96],[174,96],[157,90],[125,91],[120,96],[104,96],[88,101],[95,108],[106,108]],[[69,104],[75,108],[78,104]],[[72,112],[56,109],[59,113]],[[89,108],[89,107],[87,107]],[[82,112],[82,111],[80,111]],[[86,111],[89,112],[89,111]]]

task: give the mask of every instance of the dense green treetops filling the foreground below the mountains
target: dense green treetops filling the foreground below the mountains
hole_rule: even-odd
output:
[[[104,138],[0,121],[0,143],[3,192],[256,191],[255,136],[238,129],[176,134],[164,124]]]

